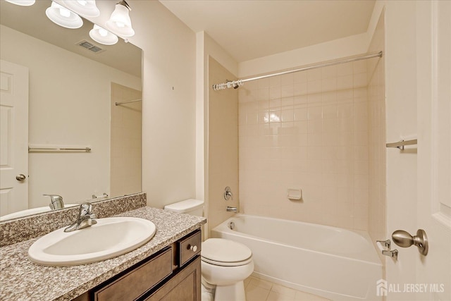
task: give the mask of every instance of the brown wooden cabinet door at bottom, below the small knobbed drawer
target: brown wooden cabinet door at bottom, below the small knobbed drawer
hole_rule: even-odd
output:
[[[201,301],[200,256],[145,301]]]

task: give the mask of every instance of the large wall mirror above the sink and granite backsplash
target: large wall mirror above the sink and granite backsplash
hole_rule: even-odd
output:
[[[141,192],[142,50],[94,42],[85,19],[75,30],[52,23],[50,0],[0,5],[2,68],[23,66],[28,77],[20,121],[7,95],[18,80],[1,70],[1,220],[49,210],[44,194],[69,205]],[[11,146],[18,128],[27,129],[23,157]]]

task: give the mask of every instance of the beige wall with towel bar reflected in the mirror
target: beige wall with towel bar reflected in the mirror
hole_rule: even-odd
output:
[[[66,204],[110,194],[111,82],[140,90],[141,79],[3,25],[0,29],[1,59],[30,70],[30,145],[92,148],[89,154],[30,153],[30,207],[48,206],[44,193],[62,195]]]

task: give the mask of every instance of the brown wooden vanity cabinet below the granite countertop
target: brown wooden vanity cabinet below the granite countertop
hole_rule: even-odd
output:
[[[201,232],[193,231],[75,301],[200,301],[200,245]]]

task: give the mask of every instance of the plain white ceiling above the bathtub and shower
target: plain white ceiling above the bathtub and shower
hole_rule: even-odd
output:
[[[160,0],[237,61],[366,32],[374,0]]]

